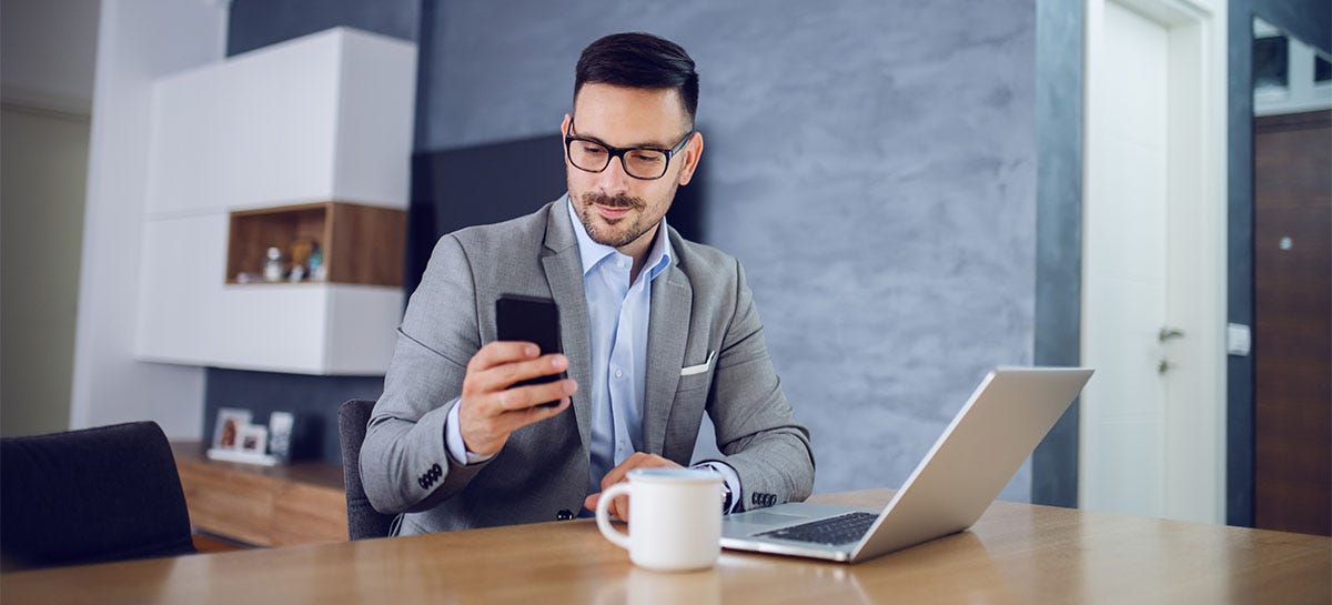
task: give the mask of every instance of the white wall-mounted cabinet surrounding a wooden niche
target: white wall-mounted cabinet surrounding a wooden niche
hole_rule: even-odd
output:
[[[414,83],[414,45],[348,28],[159,80],[137,357],[382,374],[401,320],[401,276],[373,284],[237,284],[237,276],[228,275],[229,243],[292,243],[256,244],[256,237],[237,237],[228,229],[236,224],[233,212],[308,203],[388,208],[405,217]],[[338,216],[360,216],[346,212]],[[404,245],[402,237],[376,233],[382,241],[372,247]],[[340,240],[365,245],[360,237]],[[232,251],[233,264],[240,253]],[[358,261],[348,253],[361,252],[324,251],[338,263]]]

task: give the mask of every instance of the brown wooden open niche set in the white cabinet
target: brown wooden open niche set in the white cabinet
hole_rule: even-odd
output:
[[[272,284],[262,277],[268,249],[281,249],[284,272],[290,272],[297,241],[313,243],[321,251],[328,272],[322,281],[402,287],[406,212],[342,201],[232,212],[226,283]],[[241,273],[250,279],[241,281]],[[316,280],[306,276],[300,281]],[[276,281],[289,283],[286,279]]]

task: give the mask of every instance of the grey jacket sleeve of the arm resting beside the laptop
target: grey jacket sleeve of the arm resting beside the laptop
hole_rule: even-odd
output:
[[[735,265],[735,314],[722,338],[707,412],[717,445],[741,478],[741,505],[801,501],[814,489],[810,432],[795,421],[763,340],[745,269]]]

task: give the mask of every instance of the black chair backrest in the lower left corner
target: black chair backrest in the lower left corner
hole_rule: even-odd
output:
[[[157,422],[0,440],[9,568],[194,552],[176,458]]]

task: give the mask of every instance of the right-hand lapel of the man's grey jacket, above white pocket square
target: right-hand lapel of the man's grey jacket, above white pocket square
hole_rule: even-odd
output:
[[[675,251],[678,244],[671,243]],[[643,388],[643,449],[661,454],[666,446],[666,422],[675,402],[679,369],[685,366],[689,316],[694,288],[679,271],[673,252],[665,275],[653,281],[651,318],[647,325],[647,382]]]

